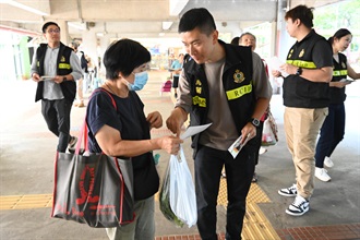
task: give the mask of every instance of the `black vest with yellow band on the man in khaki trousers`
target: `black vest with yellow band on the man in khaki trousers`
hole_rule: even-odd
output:
[[[286,62],[303,69],[317,69],[312,59],[312,50],[319,40],[326,39],[312,31],[289,50]],[[328,83],[315,83],[299,75],[290,74],[284,80],[284,105],[298,108],[324,108],[329,104]]]

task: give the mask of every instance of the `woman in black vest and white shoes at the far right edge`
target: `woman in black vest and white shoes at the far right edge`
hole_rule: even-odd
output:
[[[315,154],[315,177],[324,182],[332,179],[324,165],[328,168],[334,166],[329,157],[345,134],[345,86],[351,83],[345,80],[347,76],[353,80],[360,79],[360,73],[355,72],[347,62],[346,56],[341,53],[350,46],[351,39],[352,35],[346,28],[338,29],[333,37],[328,38],[328,43],[333,47],[334,62],[333,80],[329,82],[331,105],[328,106],[328,116],[321,128]]]

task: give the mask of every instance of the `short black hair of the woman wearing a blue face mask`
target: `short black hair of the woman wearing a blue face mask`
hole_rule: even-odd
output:
[[[149,51],[140,43],[125,38],[113,41],[104,53],[106,79],[116,80],[120,72],[128,76],[151,60]]]

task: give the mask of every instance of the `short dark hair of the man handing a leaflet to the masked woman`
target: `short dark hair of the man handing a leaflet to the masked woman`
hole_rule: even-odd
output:
[[[180,19],[178,32],[179,34],[190,32],[196,27],[207,36],[216,29],[214,17],[207,9],[191,9],[185,12]]]

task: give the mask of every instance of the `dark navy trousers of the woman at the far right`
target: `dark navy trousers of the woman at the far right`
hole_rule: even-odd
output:
[[[337,144],[341,142],[345,134],[345,106],[333,104],[328,107],[328,116],[321,128],[316,145],[315,166],[324,167],[325,157],[331,157]]]

